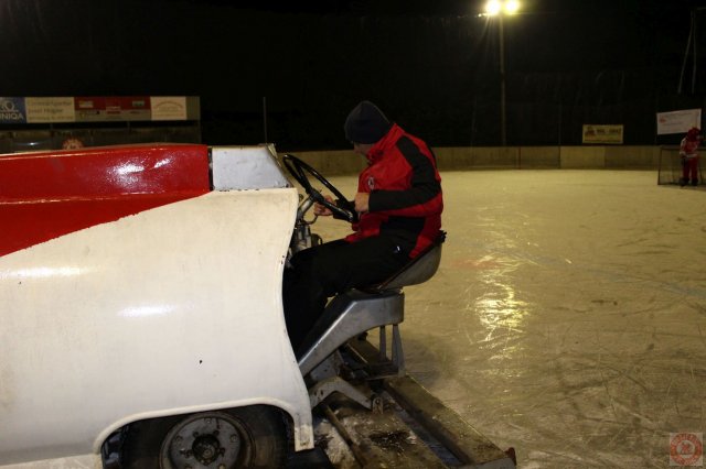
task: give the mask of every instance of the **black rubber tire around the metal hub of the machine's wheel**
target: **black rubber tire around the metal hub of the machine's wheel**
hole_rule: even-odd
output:
[[[240,440],[244,445],[249,441],[247,449],[252,450],[252,456],[247,461],[237,465],[237,468],[285,467],[289,445],[287,427],[280,411],[266,405],[255,405],[217,412],[235,417],[247,432],[247,437],[242,436]],[[160,461],[160,450],[164,438],[175,425],[181,425],[182,422],[194,415],[197,413],[151,418],[130,424],[122,441],[120,456],[122,469],[164,468]]]

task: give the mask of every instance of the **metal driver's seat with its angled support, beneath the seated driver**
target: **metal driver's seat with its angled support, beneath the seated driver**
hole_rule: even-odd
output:
[[[404,374],[404,355],[399,324],[404,320],[403,287],[431,279],[441,262],[446,232],[439,231],[434,242],[389,279],[377,285],[354,288],[335,296],[297,350],[299,370],[317,384],[310,388],[311,407],[333,391],[340,391],[371,408],[367,396],[351,395],[357,391],[338,379],[336,351],[354,337],[379,327],[379,361],[387,361],[387,334],[393,326],[392,363],[396,374]],[[340,364],[340,363],[339,363]],[[333,383],[335,380],[335,383]]]

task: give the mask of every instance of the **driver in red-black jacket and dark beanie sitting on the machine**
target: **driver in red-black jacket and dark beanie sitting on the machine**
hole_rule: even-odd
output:
[[[343,129],[353,151],[367,160],[353,201],[359,221],[344,239],[298,252],[285,270],[285,319],[295,351],[329,297],[388,279],[441,228],[441,177],[429,146],[370,101],[350,112]],[[319,204],[314,214],[332,215]]]

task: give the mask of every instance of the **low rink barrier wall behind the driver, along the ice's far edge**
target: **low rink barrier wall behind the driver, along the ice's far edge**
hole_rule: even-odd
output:
[[[435,148],[440,171],[657,170],[660,146],[445,146]],[[352,150],[295,152],[321,174],[356,174],[364,166]]]

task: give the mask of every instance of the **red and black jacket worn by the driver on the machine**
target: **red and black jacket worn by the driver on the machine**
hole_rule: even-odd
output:
[[[424,141],[393,124],[371,149],[367,162],[357,190],[370,193],[370,211],[361,214],[346,240],[394,236],[414,258],[441,228],[443,198],[436,157]]]

